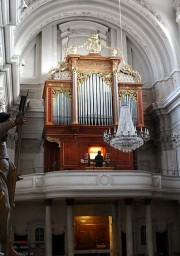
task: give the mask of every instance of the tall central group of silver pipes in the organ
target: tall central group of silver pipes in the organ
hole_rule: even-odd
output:
[[[78,88],[78,121],[81,125],[112,125],[111,87],[92,74]]]

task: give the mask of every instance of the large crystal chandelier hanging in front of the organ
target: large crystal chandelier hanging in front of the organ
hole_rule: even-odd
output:
[[[139,131],[136,130],[128,104],[121,105],[117,131],[116,127],[114,127],[113,132],[111,132],[110,128],[109,131],[106,130],[104,132],[104,141],[123,152],[131,152],[142,146],[149,139],[148,129],[141,127]]]

